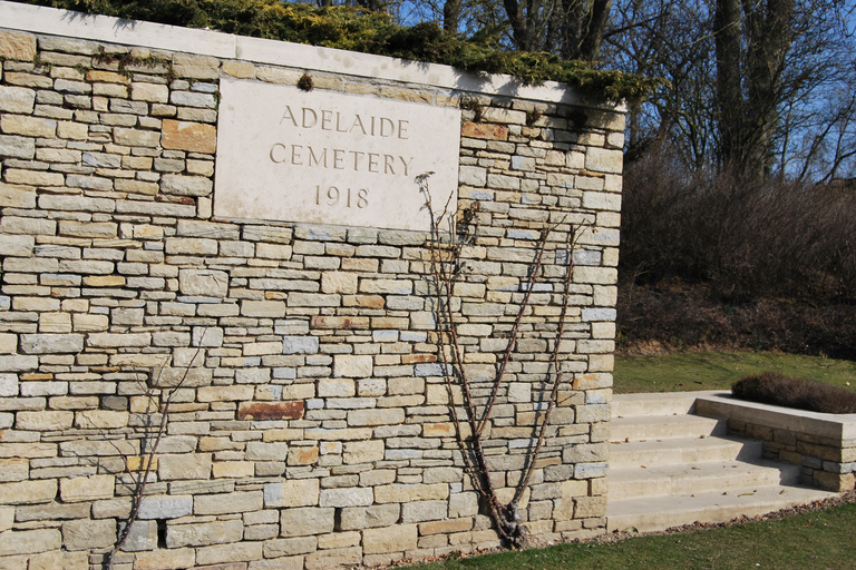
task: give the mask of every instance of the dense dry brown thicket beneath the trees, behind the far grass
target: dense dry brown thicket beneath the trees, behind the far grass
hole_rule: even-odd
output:
[[[691,177],[658,153],[625,176],[622,350],[856,360],[856,188]]]

